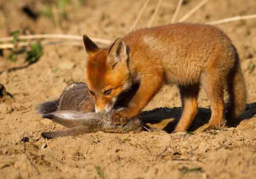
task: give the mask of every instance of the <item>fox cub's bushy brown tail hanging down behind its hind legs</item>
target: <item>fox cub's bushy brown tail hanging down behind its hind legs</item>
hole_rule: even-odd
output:
[[[236,51],[236,49],[235,49]],[[228,78],[229,107],[226,119],[234,121],[238,119],[246,108],[247,91],[245,79],[242,74],[238,53],[236,63]]]

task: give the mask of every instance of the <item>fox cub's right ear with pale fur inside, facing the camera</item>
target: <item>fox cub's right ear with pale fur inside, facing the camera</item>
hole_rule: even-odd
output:
[[[108,63],[113,66],[120,61],[126,62],[127,58],[127,48],[124,41],[121,38],[116,39],[109,49]]]

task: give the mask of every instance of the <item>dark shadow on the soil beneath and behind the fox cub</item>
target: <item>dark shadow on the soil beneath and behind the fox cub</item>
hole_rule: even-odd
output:
[[[161,128],[167,133],[173,132],[176,124],[178,123],[181,117],[182,109],[181,107],[173,108],[156,108],[151,111],[144,111],[141,114],[141,119],[147,125],[152,125],[153,127]],[[237,127],[241,121],[252,118],[256,114],[256,102],[249,103],[246,105],[246,110],[244,114],[241,115],[240,119],[235,122],[226,123],[227,127]],[[206,125],[211,118],[210,108],[198,108],[198,113],[191,123],[188,131],[195,131]]]

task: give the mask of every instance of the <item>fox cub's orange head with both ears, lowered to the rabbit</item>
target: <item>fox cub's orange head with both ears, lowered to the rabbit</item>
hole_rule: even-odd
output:
[[[85,82],[94,99],[95,111],[109,112],[118,97],[132,85],[127,46],[121,38],[104,49],[99,48],[86,35],[83,35],[83,42],[88,55]]]

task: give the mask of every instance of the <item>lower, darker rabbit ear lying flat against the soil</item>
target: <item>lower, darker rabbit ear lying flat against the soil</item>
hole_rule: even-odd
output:
[[[42,132],[41,136],[44,138],[56,138],[65,136],[77,136],[80,134],[90,133],[90,127],[87,126],[77,126],[70,129],[58,130],[54,132]]]

